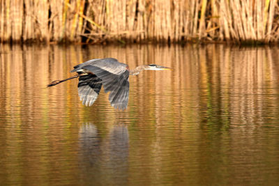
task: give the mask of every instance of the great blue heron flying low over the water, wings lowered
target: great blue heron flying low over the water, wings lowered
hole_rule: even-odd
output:
[[[128,65],[119,63],[117,59],[92,59],[76,65],[74,70],[77,75],[56,80],[47,86],[54,86],[61,82],[79,77],[78,94],[82,104],[91,106],[104,86],[105,93],[110,92],[109,100],[115,109],[126,109],[129,98],[129,75],[138,75],[142,70],[170,70],[171,68],[160,65],[140,65],[134,70],[129,70]]]

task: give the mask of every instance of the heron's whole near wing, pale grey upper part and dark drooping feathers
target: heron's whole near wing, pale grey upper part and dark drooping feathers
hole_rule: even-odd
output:
[[[109,100],[112,107],[122,110],[127,108],[129,71],[126,64],[119,63],[116,59],[97,59],[77,65],[71,72],[80,70],[88,70],[101,79],[105,93],[110,92]]]

